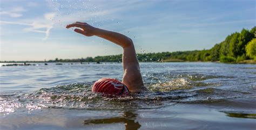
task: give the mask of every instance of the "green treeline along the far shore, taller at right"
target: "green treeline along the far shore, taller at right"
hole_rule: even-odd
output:
[[[226,37],[223,42],[216,44],[211,49],[144,53],[137,54],[142,62],[171,62],[171,61],[220,61],[241,62],[244,60],[256,60],[256,26],[251,30],[243,29],[240,33],[235,32]],[[9,61],[14,62],[14,61]],[[26,61],[28,62],[28,61]],[[31,61],[30,61],[31,62]],[[43,61],[41,61],[43,62]],[[122,62],[122,54],[86,57],[81,59],[58,59],[46,62]]]

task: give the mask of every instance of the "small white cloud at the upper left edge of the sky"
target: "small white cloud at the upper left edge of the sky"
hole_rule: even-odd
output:
[[[22,17],[22,12],[26,11],[23,7],[15,7],[6,11],[0,11],[0,15],[7,15],[12,18]]]

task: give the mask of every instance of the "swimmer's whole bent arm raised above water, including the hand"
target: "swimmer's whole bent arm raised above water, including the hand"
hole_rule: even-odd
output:
[[[136,51],[130,38],[117,32],[102,30],[100,28],[93,27],[87,23],[76,22],[66,27],[79,27],[76,28],[74,31],[87,37],[96,35],[97,37],[104,38],[113,42],[114,44],[123,47],[123,83],[133,93],[148,91],[143,84]]]

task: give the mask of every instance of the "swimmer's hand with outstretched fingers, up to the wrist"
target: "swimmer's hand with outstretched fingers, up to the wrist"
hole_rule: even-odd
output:
[[[66,26],[66,28],[70,27],[79,27],[81,29],[76,28],[74,31],[80,34],[83,34],[87,37],[91,37],[92,35],[95,35],[96,28],[87,24],[77,21],[76,23],[69,24]]]

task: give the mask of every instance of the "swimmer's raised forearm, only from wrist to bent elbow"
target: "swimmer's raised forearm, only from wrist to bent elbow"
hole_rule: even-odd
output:
[[[132,40],[123,34],[96,28],[95,35],[122,46],[123,48],[133,45]]]

